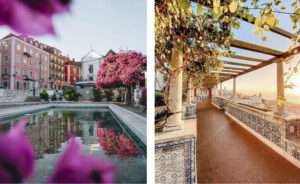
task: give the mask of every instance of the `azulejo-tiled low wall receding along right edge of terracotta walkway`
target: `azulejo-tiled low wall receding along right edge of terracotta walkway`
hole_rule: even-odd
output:
[[[227,104],[226,112],[289,155],[300,160],[300,149],[288,141],[291,137],[299,136],[299,121],[284,122],[281,119],[275,119],[272,116],[254,112],[233,103]]]

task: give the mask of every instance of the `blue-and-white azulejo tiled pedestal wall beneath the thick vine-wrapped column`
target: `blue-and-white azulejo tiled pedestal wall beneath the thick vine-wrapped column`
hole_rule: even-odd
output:
[[[196,183],[194,138],[155,145],[155,183]]]

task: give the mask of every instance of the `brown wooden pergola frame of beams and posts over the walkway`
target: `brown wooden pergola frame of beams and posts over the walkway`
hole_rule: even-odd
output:
[[[195,3],[198,2],[198,0],[191,0]],[[245,16],[248,17],[248,16]],[[250,24],[255,23],[255,18],[250,22],[245,17],[238,17],[241,18],[243,21],[248,22]],[[263,25],[262,25],[263,26]],[[262,27],[263,28],[263,27]],[[282,37],[292,39],[293,34],[281,29],[279,27],[273,27],[270,28],[270,31],[278,34]],[[242,54],[237,53],[236,55],[229,55],[228,58],[234,58],[238,59],[238,62],[236,60],[220,60],[224,62],[224,68],[221,72],[212,72],[209,77],[207,77],[204,80],[204,87],[206,88],[214,88],[218,83],[221,85],[220,94],[222,95],[222,82],[233,79],[233,101],[235,101],[236,97],[236,78],[247,74],[249,72],[255,71],[257,69],[263,68],[265,66],[268,66],[273,63],[277,63],[277,97],[284,97],[284,77],[283,77],[283,63],[285,59],[289,58],[292,55],[296,55],[300,51],[300,46],[295,47],[291,51],[278,51],[276,49],[264,47],[261,45],[256,45],[253,43],[248,43],[241,40],[233,40],[231,42],[231,47],[245,50],[245,51],[251,51],[251,52],[257,52],[260,54],[265,54],[272,56],[269,59],[260,59],[255,57],[248,57],[243,56]],[[249,61],[252,64],[249,64]],[[255,64],[253,64],[255,63]],[[218,79],[215,75],[215,73],[218,73]],[[284,105],[283,106],[277,106],[277,112],[278,114],[284,113]]]

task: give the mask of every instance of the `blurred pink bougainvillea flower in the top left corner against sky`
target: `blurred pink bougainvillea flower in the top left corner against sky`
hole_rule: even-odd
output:
[[[70,11],[71,0],[0,0],[0,25],[28,35],[55,34],[52,16]]]

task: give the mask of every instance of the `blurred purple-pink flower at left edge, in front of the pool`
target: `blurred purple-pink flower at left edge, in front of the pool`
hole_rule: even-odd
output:
[[[34,173],[34,152],[24,133],[22,119],[5,134],[0,134],[0,182],[19,183]]]

